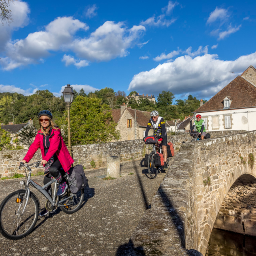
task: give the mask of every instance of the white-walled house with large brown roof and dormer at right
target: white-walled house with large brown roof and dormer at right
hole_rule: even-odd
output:
[[[256,69],[249,66],[241,76],[214,95],[194,115],[200,114],[206,131],[256,129]]]

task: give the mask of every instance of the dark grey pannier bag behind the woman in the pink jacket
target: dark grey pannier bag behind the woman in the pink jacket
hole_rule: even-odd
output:
[[[83,189],[87,185],[87,178],[84,174],[84,167],[82,164],[78,164],[68,170],[67,173],[68,184],[73,194],[76,194],[79,190]]]

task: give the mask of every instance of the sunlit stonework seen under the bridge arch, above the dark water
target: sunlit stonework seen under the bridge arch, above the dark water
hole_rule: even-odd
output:
[[[214,228],[256,236],[256,178],[240,176],[224,198]]]

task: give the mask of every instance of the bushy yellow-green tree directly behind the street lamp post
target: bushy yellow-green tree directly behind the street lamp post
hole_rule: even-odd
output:
[[[67,112],[58,118],[67,143]],[[120,138],[110,107],[98,98],[77,96],[70,107],[70,133],[72,145],[105,143]]]

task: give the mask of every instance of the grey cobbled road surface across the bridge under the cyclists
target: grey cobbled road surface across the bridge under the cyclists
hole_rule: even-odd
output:
[[[129,173],[133,173],[128,175]],[[121,166],[122,177],[103,180],[106,169],[86,172],[89,188],[82,208],[67,215],[62,211],[39,218],[34,231],[21,240],[0,235],[1,256],[112,256],[128,242],[142,214],[164,179],[148,178],[148,170],[139,161]],[[42,184],[43,177],[34,177]],[[22,189],[19,180],[0,181],[0,202],[11,192]],[[34,191],[32,189],[32,191]],[[35,192],[35,191],[34,191]],[[36,191],[41,208],[45,199]]]

